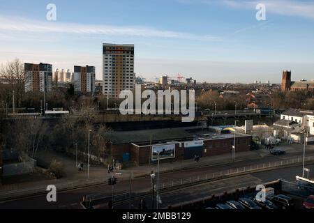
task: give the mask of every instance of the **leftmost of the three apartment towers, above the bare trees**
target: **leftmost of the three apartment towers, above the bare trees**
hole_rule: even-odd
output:
[[[24,63],[25,92],[52,91],[52,65],[48,63]]]

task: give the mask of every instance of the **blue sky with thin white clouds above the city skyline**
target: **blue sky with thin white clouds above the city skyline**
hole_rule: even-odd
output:
[[[135,73],[147,80],[280,83],[282,70],[310,80],[313,28],[314,1],[0,0],[0,63],[96,66],[102,79],[103,43],[134,44]]]

